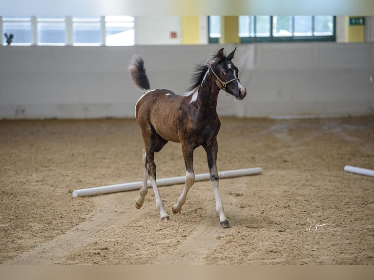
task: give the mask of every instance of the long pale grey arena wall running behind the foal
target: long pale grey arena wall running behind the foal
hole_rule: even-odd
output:
[[[220,47],[1,46],[0,119],[133,118],[133,54],[144,57],[152,88],[182,94],[194,64]],[[374,43],[241,44],[233,62],[248,95],[221,92],[221,116],[374,114]]]

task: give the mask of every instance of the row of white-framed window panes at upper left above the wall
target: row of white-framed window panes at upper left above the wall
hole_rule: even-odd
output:
[[[12,45],[134,45],[132,16],[0,16],[0,43],[13,34]]]

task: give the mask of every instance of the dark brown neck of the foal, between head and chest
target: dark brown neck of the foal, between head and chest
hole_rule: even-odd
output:
[[[215,79],[211,71],[208,70],[207,76],[200,85],[197,98],[198,110],[203,115],[216,113],[219,87],[215,83]]]

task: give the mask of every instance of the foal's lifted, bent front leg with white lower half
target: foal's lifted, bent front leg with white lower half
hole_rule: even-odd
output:
[[[177,203],[171,208],[173,214],[177,214],[179,211],[181,211],[183,204],[186,202],[187,193],[195,182],[195,173],[193,172],[193,150],[193,147],[184,145],[182,143],[183,158],[186,165],[186,183],[182,194],[177,200]]]

